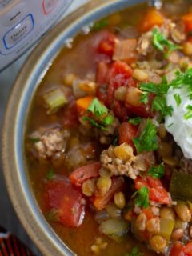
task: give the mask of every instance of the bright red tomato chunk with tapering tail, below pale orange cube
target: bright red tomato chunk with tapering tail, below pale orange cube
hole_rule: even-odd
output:
[[[114,91],[120,86],[127,86],[133,71],[125,62],[117,61],[110,69],[110,84],[107,90],[107,98],[109,106],[114,100]]]

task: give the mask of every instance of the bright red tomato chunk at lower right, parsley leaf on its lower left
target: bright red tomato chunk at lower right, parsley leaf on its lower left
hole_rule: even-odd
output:
[[[147,176],[146,179],[138,177],[134,180],[135,188],[140,190],[142,186],[149,189],[149,198],[151,201],[169,205],[171,202],[170,194],[162,186],[162,182],[158,178]]]

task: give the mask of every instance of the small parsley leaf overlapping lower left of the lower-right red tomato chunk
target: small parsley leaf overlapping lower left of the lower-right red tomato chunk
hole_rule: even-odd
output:
[[[149,189],[147,186],[142,186],[142,188],[136,191],[132,197],[135,198],[136,206],[142,206],[143,208],[148,208],[150,206]]]

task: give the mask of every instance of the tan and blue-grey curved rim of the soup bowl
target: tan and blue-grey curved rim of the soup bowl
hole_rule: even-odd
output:
[[[46,70],[69,38],[83,26],[142,0],[94,0],[62,20],[30,54],[14,84],[2,132],[2,162],[14,210],[43,255],[74,255],[58,238],[35,201],[27,174],[24,136],[34,94]]]

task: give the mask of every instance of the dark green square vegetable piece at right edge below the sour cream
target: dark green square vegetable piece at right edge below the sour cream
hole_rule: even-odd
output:
[[[178,200],[192,201],[192,175],[174,171],[170,181],[170,194]]]

